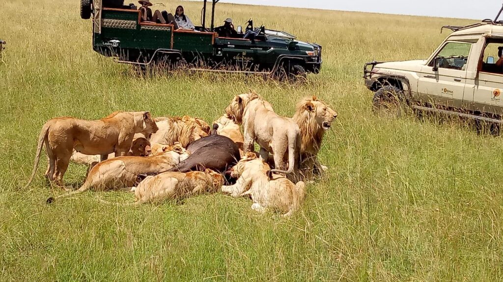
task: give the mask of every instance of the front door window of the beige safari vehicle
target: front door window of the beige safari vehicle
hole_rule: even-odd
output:
[[[471,43],[447,43],[435,57],[439,61],[439,68],[465,70],[471,46]],[[430,63],[431,66],[434,61]]]

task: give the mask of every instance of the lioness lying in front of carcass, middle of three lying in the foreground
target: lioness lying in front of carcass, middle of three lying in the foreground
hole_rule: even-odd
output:
[[[165,172],[147,176],[134,188],[135,205],[175,200],[201,193],[216,192],[222,187],[223,176],[210,169],[204,172]]]

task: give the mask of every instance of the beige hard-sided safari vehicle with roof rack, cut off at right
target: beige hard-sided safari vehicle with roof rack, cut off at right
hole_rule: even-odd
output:
[[[374,110],[400,114],[412,108],[503,123],[502,12],[495,20],[442,27],[453,33],[427,60],[366,63]]]

